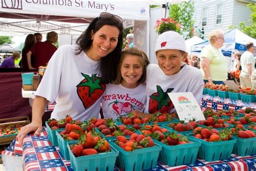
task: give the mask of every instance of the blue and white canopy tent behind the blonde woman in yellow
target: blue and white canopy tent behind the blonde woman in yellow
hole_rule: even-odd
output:
[[[256,39],[245,35],[245,33],[241,32],[238,29],[233,29],[228,31],[224,34],[225,42],[223,47],[221,47],[221,51],[223,52],[224,56],[231,57],[232,50],[238,51],[246,51],[245,44],[247,42],[252,42],[256,45]],[[203,43],[199,43],[192,46],[191,52],[200,53],[201,50],[209,44],[209,41],[205,41]]]

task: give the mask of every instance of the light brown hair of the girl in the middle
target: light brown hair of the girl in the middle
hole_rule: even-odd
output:
[[[129,55],[138,57],[140,64],[142,64],[142,67],[143,67],[142,77],[140,77],[140,79],[138,81],[139,81],[139,83],[145,82],[146,73],[147,73],[147,65],[149,65],[149,63],[150,63],[149,58],[147,58],[147,55],[145,52],[143,52],[143,50],[139,49],[138,47],[133,46],[133,47],[130,47],[130,48],[122,51],[120,62],[117,67],[117,79],[113,81],[113,84],[118,85],[123,80],[120,70],[121,70],[121,66],[122,66],[124,58]]]

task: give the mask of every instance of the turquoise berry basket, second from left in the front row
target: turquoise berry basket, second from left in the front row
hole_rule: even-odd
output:
[[[144,170],[157,166],[157,160],[161,146],[155,144],[153,147],[136,149],[131,152],[124,151],[114,143],[116,140],[110,140],[110,144],[119,151],[116,165],[125,170]]]

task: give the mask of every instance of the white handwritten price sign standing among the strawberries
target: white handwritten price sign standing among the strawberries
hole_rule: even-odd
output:
[[[197,100],[191,92],[168,93],[180,120],[205,120]]]

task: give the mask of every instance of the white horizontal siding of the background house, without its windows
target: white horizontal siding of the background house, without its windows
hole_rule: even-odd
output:
[[[199,26],[200,29],[202,28],[201,17],[203,8],[208,8],[207,26],[204,26],[205,39],[208,38],[212,30],[220,29],[225,33],[230,30],[228,26],[239,25],[239,22],[247,22],[250,19],[251,11],[247,8],[247,4],[237,2],[237,0],[192,0],[192,2],[194,2],[194,26]],[[223,4],[222,23],[216,24],[217,5],[221,3]]]

